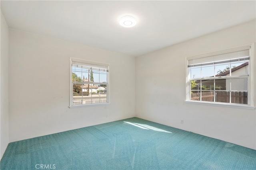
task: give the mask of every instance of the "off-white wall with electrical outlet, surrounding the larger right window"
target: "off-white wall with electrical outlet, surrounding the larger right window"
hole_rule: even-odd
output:
[[[185,58],[253,43],[255,25],[249,21],[137,57],[136,116],[256,149],[255,110],[184,102]]]

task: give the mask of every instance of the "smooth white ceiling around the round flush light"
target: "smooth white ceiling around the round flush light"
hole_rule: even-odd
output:
[[[256,18],[256,1],[4,1],[8,26],[140,56]],[[134,16],[137,25],[118,19]]]

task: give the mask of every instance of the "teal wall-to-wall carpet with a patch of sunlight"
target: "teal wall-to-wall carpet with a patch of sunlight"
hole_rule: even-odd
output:
[[[9,143],[1,170],[256,170],[256,150],[139,118]]]

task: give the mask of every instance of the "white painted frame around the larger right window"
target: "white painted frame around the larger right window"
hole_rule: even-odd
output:
[[[191,59],[201,58],[201,57],[207,57],[207,56],[213,56],[218,54],[223,54],[227,52],[232,51],[238,51],[242,47],[248,47],[250,46],[250,61],[249,61],[249,76],[248,76],[248,104],[234,104],[234,103],[223,103],[223,102],[206,102],[206,101],[196,101],[196,100],[190,100],[190,72],[188,69],[188,61]],[[186,57],[186,100],[185,102],[188,104],[200,104],[200,105],[208,105],[208,106],[222,106],[222,107],[233,107],[233,108],[240,108],[240,109],[255,109],[255,66],[256,66],[256,60],[255,60],[255,49],[256,49],[256,43],[250,43],[247,45],[234,47],[232,49],[226,49],[222,51],[212,52],[212,53],[206,53],[202,55],[192,56],[192,57]]]

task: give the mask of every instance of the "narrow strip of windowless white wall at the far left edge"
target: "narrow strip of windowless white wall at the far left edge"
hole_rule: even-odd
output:
[[[0,56],[0,159],[9,143],[8,121],[8,25],[1,12],[1,56]]]

